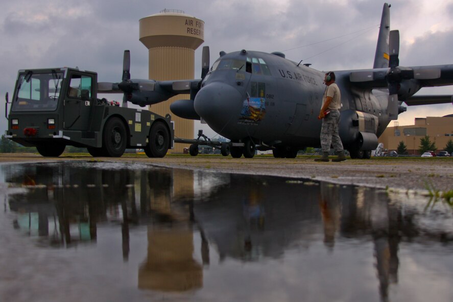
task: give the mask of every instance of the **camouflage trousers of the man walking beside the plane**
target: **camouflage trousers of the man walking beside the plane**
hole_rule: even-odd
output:
[[[330,110],[330,113],[322,119],[321,126],[321,148],[322,152],[329,152],[332,145],[335,152],[343,151],[343,144],[338,135],[338,124],[340,123],[340,111]]]

